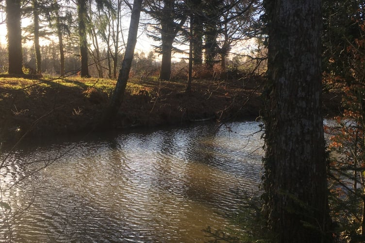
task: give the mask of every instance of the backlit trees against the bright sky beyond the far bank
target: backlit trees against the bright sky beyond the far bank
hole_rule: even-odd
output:
[[[123,23],[132,3],[2,0],[0,4],[8,27],[8,60],[6,65],[1,60],[2,71],[22,74],[25,65],[38,74],[64,75],[66,70],[80,69],[83,77],[116,78],[126,46]],[[159,77],[169,80],[172,53],[188,53],[190,42],[194,66],[213,69],[219,63],[224,71],[227,56],[237,42],[261,35],[261,12],[260,0],[145,0],[140,27],[159,43],[154,46],[161,58]],[[51,44],[42,46],[42,39]],[[25,42],[33,43],[33,47],[25,46]]]

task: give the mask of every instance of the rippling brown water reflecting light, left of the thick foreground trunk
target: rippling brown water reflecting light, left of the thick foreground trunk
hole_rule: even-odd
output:
[[[258,124],[99,135],[3,154],[2,201],[12,212],[29,208],[0,229],[0,239],[207,241],[207,226],[231,224],[226,215],[237,210],[240,191],[257,191],[263,156]]]

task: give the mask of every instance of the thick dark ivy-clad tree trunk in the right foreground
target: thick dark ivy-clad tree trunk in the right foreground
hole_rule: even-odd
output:
[[[264,211],[278,242],[326,242],[321,1],[266,0]]]

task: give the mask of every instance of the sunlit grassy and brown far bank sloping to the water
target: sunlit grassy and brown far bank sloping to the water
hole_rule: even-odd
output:
[[[93,131],[116,85],[110,79],[0,78],[2,143]],[[262,113],[264,79],[186,81],[132,79],[118,117],[107,129],[180,125],[199,121],[255,120]],[[293,101],[294,102],[294,101]],[[340,113],[341,95],[326,92],[326,117]]]

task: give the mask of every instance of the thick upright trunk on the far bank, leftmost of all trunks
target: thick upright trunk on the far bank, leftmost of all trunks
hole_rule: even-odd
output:
[[[6,0],[6,27],[8,29],[8,73],[23,74],[21,50],[20,0]]]

